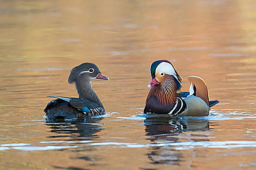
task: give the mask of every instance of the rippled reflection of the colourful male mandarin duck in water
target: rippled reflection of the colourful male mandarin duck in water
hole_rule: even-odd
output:
[[[180,165],[185,161],[184,150],[177,150],[171,143],[179,142],[183,132],[207,131],[209,121],[207,119],[171,117],[168,115],[151,115],[144,120],[146,136],[150,136],[150,152],[148,158],[153,164]],[[206,135],[186,136],[189,141],[208,141]]]

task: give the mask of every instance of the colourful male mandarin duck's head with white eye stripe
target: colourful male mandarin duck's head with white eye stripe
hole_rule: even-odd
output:
[[[161,84],[162,82],[165,82],[168,77],[172,76],[177,86],[177,90],[181,88],[182,78],[178,75],[177,71],[168,60],[158,60],[153,62],[150,66],[150,74],[152,80],[148,87]]]

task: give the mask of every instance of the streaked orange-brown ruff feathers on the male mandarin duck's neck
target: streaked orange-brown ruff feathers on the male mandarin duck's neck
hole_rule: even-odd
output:
[[[156,96],[158,101],[164,105],[173,105],[177,101],[177,85],[174,77],[165,74],[164,81],[150,88],[146,102],[152,96]]]

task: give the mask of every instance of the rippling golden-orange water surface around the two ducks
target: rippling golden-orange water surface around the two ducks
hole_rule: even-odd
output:
[[[256,168],[256,2],[0,1],[0,169]],[[209,117],[143,115],[149,66],[202,77]],[[93,62],[107,114],[53,121],[52,96],[76,97],[70,70]]]

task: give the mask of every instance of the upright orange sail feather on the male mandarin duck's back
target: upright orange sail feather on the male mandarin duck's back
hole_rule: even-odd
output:
[[[189,94],[201,98],[210,107],[208,90],[204,80],[197,76],[188,76],[188,80],[190,83]]]

